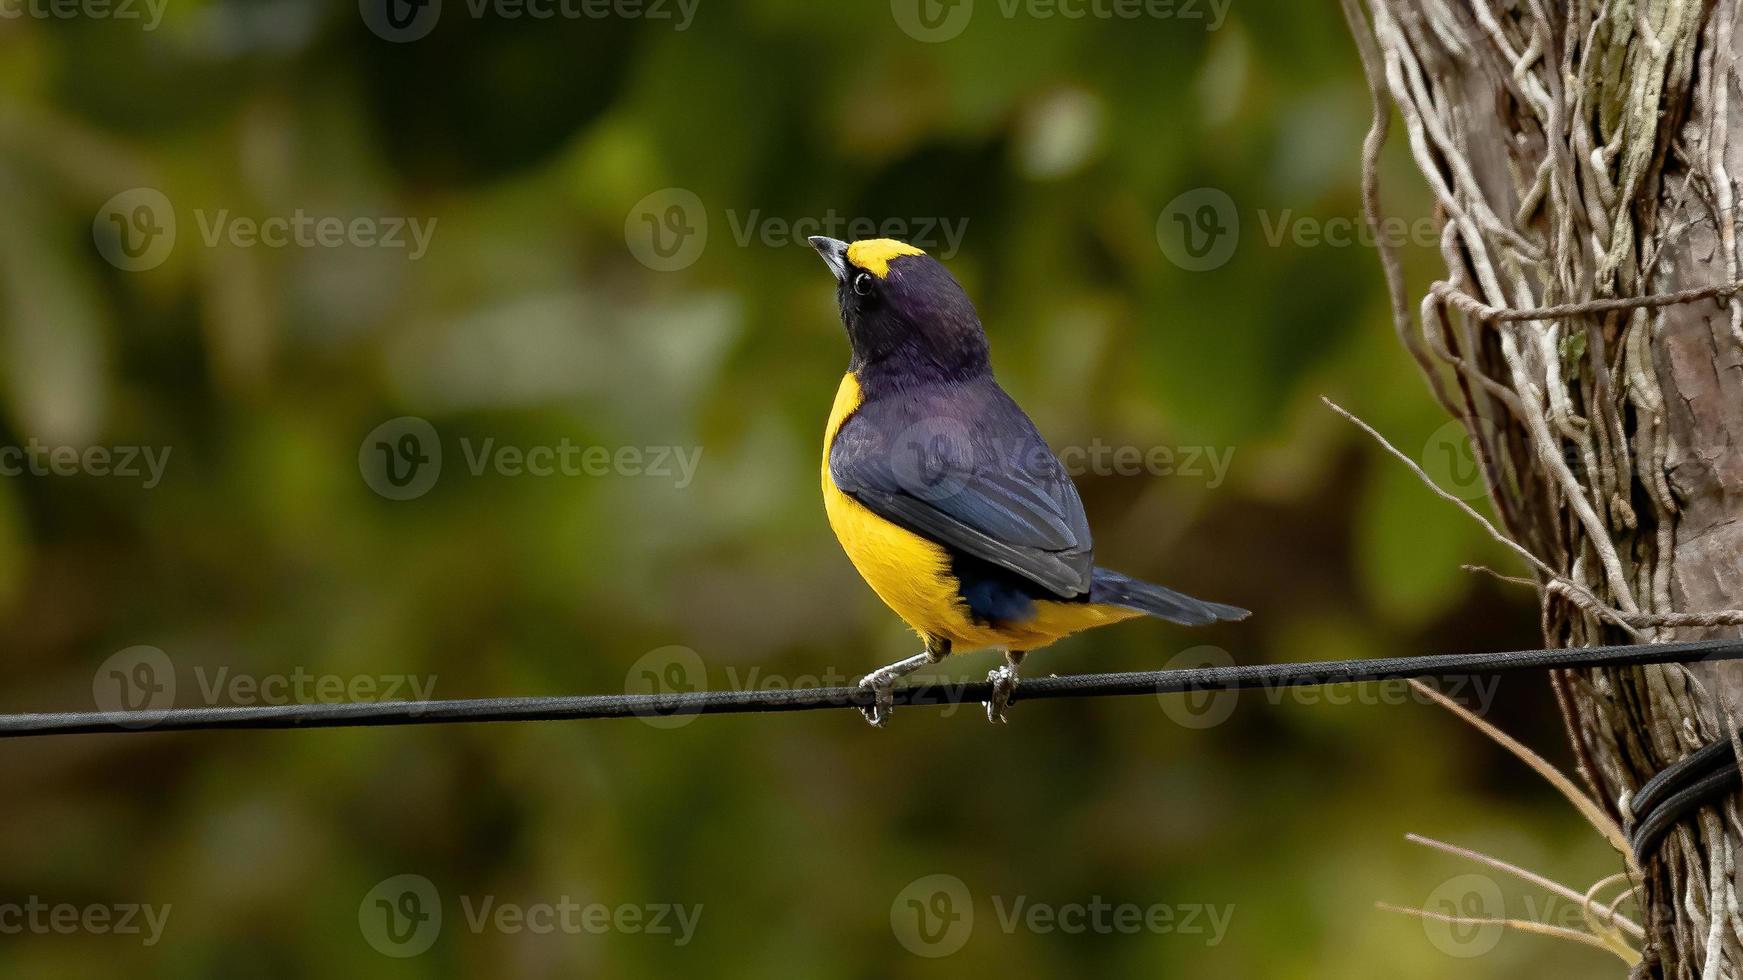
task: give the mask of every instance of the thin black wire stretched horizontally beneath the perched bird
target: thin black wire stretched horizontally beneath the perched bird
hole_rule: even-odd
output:
[[[1206,666],[1136,673],[1039,677],[1016,687],[1011,703],[1053,698],[1109,698],[1314,687],[1408,677],[1455,677],[1522,670],[1631,666],[1679,661],[1743,659],[1743,640],[1572,647],[1489,654],[1436,654],[1363,661],[1318,661],[1253,666]],[[894,691],[896,704],[971,704],[992,698],[992,684],[910,684]],[[685,694],[594,694],[556,698],[469,698],[451,701],[380,701],[347,704],[265,704],[235,708],[167,708],[162,711],[66,711],[0,715],[0,738],[94,732],[166,732],[214,729],[338,729],[371,725],[436,725],[471,722],[558,722],[748,711],[810,711],[866,708],[861,687],[810,691],[697,691]]]

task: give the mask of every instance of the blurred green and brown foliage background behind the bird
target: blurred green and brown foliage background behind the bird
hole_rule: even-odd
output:
[[[1135,623],[1035,654],[1030,673],[1537,645],[1527,591],[1461,570],[1506,558],[1318,401],[1475,492],[1391,333],[1373,248],[1346,237],[1368,98],[1332,5],[573,2],[539,19],[448,0],[396,21],[368,2],[160,0],[155,21],[143,0],[132,17],[5,7],[0,445],[169,455],[152,487],[92,466],[0,478],[0,708],[106,706],[115,664],[153,656],[141,645],[183,706],[246,699],[207,692],[234,677],[410,678],[446,698],[840,684],[913,652],[817,499],[847,350],[804,235],[852,237],[851,218],[896,221],[948,262],[1055,446],[1229,460],[1220,478],[1079,487],[1102,561],[1251,621]],[[1384,180],[1415,221],[1401,246],[1419,295],[1440,262],[1398,138]],[[228,232],[298,213],[431,234],[413,255]],[[1210,237],[1185,234],[1217,234],[1220,255],[1199,260]],[[403,417],[431,425],[444,466],[390,499],[363,462]],[[688,481],[472,474],[486,439],[701,457]],[[155,945],[12,928],[0,973],[1619,968],[1377,910],[1469,910],[1457,882],[1480,868],[1407,832],[1581,891],[1619,863],[1447,711],[1396,687],[1342,696],[1211,715],[1030,703],[1006,729],[901,710],[884,732],[816,711],[9,741],[0,905],[171,912]],[[1483,708],[1567,764],[1541,677]],[[410,950],[368,924],[396,875],[439,895],[415,956],[383,954]],[[903,936],[906,900],[945,881],[929,875],[960,882],[973,914],[948,950],[922,936],[936,957]],[[1489,879],[1504,914],[1569,924],[1567,903]],[[683,945],[467,921],[485,900],[565,896],[702,914]],[[1231,917],[1220,936],[1000,922],[1018,898],[1098,896]]]

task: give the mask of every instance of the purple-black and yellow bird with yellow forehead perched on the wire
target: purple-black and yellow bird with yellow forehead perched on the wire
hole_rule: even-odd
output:
[[[889,722],[894,684],[952,652],[999,649],[987,718],[1006,722],[1023,657],[1152,616],[1246,619],[1095,563],[1065,466],[994,378],[987,331],[948,269],[896,239],[807,239],[835,274],[847,375],[823,436],[823,504],[849,561],[924,650],[861,678]]]

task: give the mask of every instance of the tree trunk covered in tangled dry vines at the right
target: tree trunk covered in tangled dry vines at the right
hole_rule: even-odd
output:
[[[1382,246],[1396,326],[1471,431],[1506,534],[1543,561],[1546,642],[1734,635],[1724,623],[1738,616],[1720,612],[1743,605],[1736,293],[1579,316],[1543,307],[1738,279],[1740,2],[1344,5],[1375,94],[1368,216],[1380,218],[1373,164],[1396,106],[1445,220],[1448,277],[1419,310]],[[1726,738],[1743,704],[1738,664],[1553,682],[1583,776],[1618,821],[1642,781]],[[1733,795],[1630,868],[1640,973],[1743,975],[1740,827]]]

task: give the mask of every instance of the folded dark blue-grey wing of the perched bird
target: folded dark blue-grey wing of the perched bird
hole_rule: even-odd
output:
[[[830,474],[891,523],[1060,598],[1089,591],[1089,521],[1077,488],[990,378],[861,405],[830,446]]]

